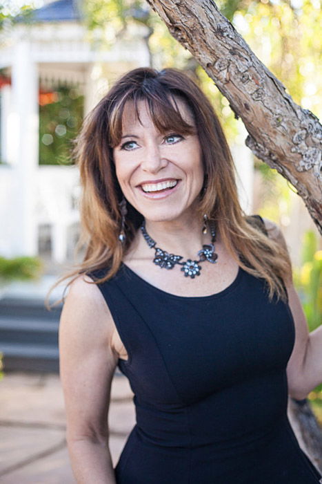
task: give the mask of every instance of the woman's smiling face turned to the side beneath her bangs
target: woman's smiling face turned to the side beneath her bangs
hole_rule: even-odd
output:
[[[181,115],[194,119],[177,99]],[[117,179],[133,207],[148,221],[174,221],[193,216],[203,186],[203,164],[197,134],[160,133],[144,100],[125,105],[121,143],[113,149]],[[196,130],[197,131],[197,130]]]

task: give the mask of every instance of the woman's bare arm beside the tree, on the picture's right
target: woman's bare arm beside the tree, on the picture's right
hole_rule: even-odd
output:
[[[279,228],[266,219],[265,227],[269,236],[286,248]],[[284,281],[295,326],[295,344],[287,367],[288,390],[291,397],[302,400],[322,382],[322,326],[309,333],[299,296],[293,286],[292,274],[285,274]]]

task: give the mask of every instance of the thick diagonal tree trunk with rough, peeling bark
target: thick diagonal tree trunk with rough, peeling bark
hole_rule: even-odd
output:
[[[295,104],[212,0],[147,0],[248,130],[246,145],[294,186],[322,234],[322,127]]]

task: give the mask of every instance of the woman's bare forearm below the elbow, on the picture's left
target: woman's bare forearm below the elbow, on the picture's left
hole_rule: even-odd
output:
[[[107,444],[82,438],[68,442],[68,451],[77,484],[116,484]]]

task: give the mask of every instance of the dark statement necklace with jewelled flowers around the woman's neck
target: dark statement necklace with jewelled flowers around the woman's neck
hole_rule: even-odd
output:
[[[214,225],[210,222],[210,234],[211,234],[211,243],[208,245],[203,245],[203,248],[199,250],[198,256],[199,259],[197,261],[192,261],[192,259],[187,259],[186,261],[181,261],[183,257],[181,255],[174,255],[165,252],[165,250],[160,249],[157,247],[157,242],[150,237],[148,232],[145,229],[145,221],[143,221],[141,225],[141,232],[143,237],[148,243],[150,249],[155,250],[153,262],[157,266],[161,267],[162,269],[173,269],[174,266],[179,265],[182,266],[181,270],[185,277],[191,277],[194,279],[195,276],[200,276],[201,266],[199,264],[203,261],[211,262],[212,264],[217,262],[218,254],[214,252],[214,241],[216,239],[216,230]],[[203,234],[207,233],[206,228],[203,229]]]

